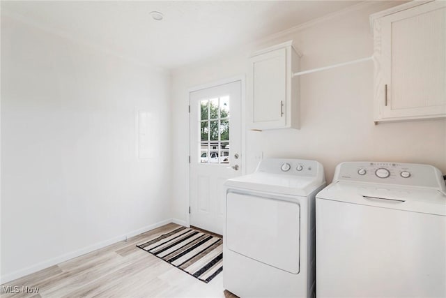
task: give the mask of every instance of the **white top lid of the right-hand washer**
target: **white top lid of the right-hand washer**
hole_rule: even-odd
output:
[[[446,216],[446,194],[433,188],[338,181],[320,191],[316,199]]]

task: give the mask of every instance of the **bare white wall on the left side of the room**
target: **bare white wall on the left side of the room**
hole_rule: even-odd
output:
[[[1,283],[170,222],[170,76],[1,17]],[[135,111],[156,115],[138,159]]]

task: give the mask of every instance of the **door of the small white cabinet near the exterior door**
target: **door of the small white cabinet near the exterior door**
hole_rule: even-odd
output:
[[[286,125],[286,49],[252,58],[253,124],[257,128]]]

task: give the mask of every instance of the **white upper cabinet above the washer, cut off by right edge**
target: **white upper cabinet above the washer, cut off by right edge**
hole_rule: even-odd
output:
[[[375,121],[446,117],[446,1],[371,15]]]

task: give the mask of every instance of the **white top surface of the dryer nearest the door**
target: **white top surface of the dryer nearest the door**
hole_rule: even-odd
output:
[[[255,172],[229,179],[224,185],[228,188],[245,188],[252,191],[306,197],[323,184],[325,181],[320,181],[315,177]]]

